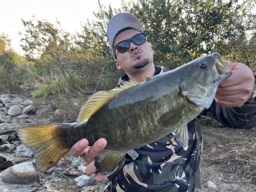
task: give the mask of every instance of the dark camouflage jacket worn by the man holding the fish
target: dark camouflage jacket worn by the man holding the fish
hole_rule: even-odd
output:
[[[156,73],[169,71],[155,66]],[[119,84],[129,80],[127,75]],[[251,129],[256,125],[256,104],[244,104],[242,108],[223,108],[213,102],[202,115],[211,116],[222,124],[239,129]],[[126,155],[115,173],[109,176],[110,183],[104,191],[194,191],[201,188],[200,156],[196,131],[201,131],[200,123],[193,120],[188,126],[189,146],[186,151],[179,145],[173,134],[137,148]],[[197,127],[196,127],[197,126]]]

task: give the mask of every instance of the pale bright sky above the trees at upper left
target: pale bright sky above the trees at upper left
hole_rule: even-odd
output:
[[[100,3],[106,8],[109,4],[112,8],[120,7],[120,0],[100,0]],[[99,10],[97,0],[0,0],[0,5],[0,33],[8,35],[11,47],[21,55],[24,54],[19,46],[18,32],[24,32],[21,19],[29,21],[34,15],[38,20],[46,19],[55,25],[57,18],[63,31],[75,34],[82,31],[81,24],[87,23],[87,19],[95,19],[93,11]]]

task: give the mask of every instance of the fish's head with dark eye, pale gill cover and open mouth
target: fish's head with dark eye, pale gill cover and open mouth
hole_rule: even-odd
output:
[[[203,56],[185,65],[180,82],[182,95],[190,104],[208,109],[219,84],[230,74],[219,53]]]

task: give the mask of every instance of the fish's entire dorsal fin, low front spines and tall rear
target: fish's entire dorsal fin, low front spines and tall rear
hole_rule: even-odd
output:
[[[93,114],[95,114],[104,105],[108,104],[112,99],[114,99],[118,93],[138,86],[139,84],[140,83],[136,81],[127,81],[113,91],[99,91],[93,94],[93,96],[91,96],[86,104],[84,104],[80,109],[80,112],[76,119],[77,124],[81,124],[90,119]]]

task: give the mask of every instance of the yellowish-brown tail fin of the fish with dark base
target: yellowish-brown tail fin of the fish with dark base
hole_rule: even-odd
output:
[[[41,124],[25,126],[16,132],[20,140],[28,146],[36,159],[36,169],[45,172],[56,164],[70,150],[61,140],[61,124]]]

